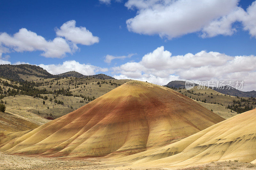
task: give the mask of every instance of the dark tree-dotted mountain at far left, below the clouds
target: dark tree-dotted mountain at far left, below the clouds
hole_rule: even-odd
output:
[[[54,78],[55,76],[44,70],[43,68],[30,64],[1,64],[0,76],[14,81],[24,81],[32,78]]]

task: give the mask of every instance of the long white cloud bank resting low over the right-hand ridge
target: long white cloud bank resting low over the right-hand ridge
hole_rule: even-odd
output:
[[[159,47],[142,57],[140,62],[128,62],[112,68],[115,78],[137,79],[160,85],[172,80],[244,80],[244,90],[255,90],[256,56],[229,56],[218,52],[172,56]],[[254,86],[254,89],[252,87]]]

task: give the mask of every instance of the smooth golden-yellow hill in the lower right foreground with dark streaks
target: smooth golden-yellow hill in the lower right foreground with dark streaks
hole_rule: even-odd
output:
[[[174,144],[116,160],[142,167],[181,168],[214,161],[256,163],[256,109],[231,117]]]

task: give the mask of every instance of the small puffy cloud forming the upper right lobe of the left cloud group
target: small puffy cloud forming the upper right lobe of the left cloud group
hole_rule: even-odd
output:
[[[85,27],[76,27],[75,20],[64,23],[60,29],[57,28],[56,34],[75,44],[92,45],[99,42],[99,37],[93,36]]]

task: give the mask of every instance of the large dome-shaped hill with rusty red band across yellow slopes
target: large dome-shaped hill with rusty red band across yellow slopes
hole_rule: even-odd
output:
[[[223,120],[179,92],[129,81],[22,136],[0,134],[0,151],[50,157],[124,156],[179,141]]]

